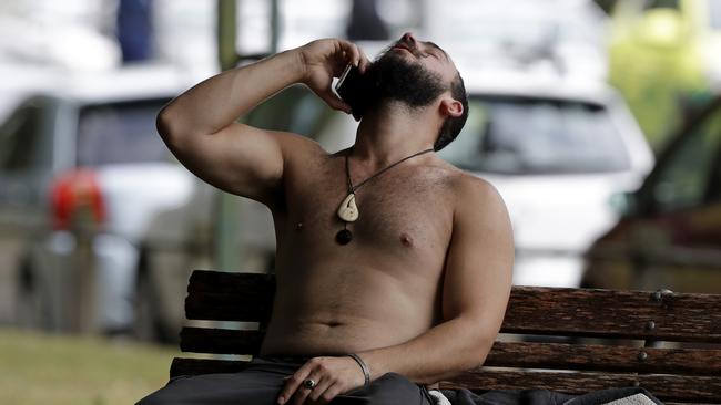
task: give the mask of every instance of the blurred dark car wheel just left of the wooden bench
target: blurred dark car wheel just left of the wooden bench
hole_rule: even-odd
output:
[[[135,285],[135,322],[133,332],[135,338],[141,341],[170,343],[173,342],[173,334],[162,321],[160,300],[158,297],[158,288],[148,266],[148,251],[142,250]]]

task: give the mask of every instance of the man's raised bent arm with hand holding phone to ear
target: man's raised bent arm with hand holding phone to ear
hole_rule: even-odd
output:
[[[195,85],[158,115],[158,131],[177,159],[203,180],[266,205],[275,202],[287,150],[307,142],[287,133],[235,123],[263,100],[304,83],[331,107],[349,112],[331,90],[345,64],[365,69],[358,48],[319,40]]]

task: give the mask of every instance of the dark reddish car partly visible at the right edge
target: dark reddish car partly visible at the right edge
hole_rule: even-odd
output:
[[[587,253],[593,288],[721,292],[721,97],[672,137]]]

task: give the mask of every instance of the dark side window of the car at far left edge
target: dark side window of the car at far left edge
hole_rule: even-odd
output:
[[[38,166],[42,114],[31,102],[18,108],[0,126],[0,169],[20,172]]]

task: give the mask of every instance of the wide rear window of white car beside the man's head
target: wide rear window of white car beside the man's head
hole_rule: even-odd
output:
[[[471,97],[466,126],[440,156],[467,170],[504,174],[630,167],[624,143],[605,107],[521,97]]]

